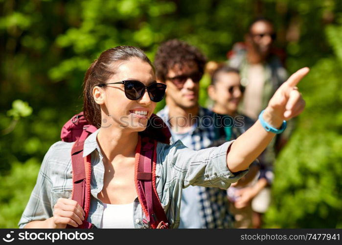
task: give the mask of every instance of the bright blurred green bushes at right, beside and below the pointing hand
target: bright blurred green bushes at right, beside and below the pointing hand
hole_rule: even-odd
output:
[[[307,107],[276,162],[266,226],[342,228],[342,60],[340,26],[327,28],[336,57],[320,59],[301,83]]]

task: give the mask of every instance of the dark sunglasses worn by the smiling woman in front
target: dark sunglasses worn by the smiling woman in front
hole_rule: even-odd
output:
[[[135,80],[127,80],[121,82],[102,83],[99,87],[107,86],[108,84],[124,84],[125,95],[131,100],[137,100],[145,94],[147,89],[148,95],[153,102],[159,102],[164,98],[166,85],[163,83],[154,82],[149,86],[145,86],[142,82]]]

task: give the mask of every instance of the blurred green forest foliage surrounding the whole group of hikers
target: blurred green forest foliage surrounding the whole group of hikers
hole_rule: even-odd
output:
[[[0,227],[16,227],[39,163],[82,110],[84,74],[103,50],[133,45],[153,60],[161,42],[179,38],[224,61],[258,15],[274,20],[290,72],[312,67],[266,225],[341,227],[342,27],[327,25],[341,23],[340,0],[6,0],[0,9]],[[205,75],[201,105],[208,84]]]

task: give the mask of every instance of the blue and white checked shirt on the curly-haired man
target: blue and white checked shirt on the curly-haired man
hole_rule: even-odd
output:
[[[165,106],[157,115],[169,126],[172,132],[169,109]],[[197,126],[194,130],[190,130],[191,146],[187,146],[194,150],[209,147],[218,139],[218,134],[213,123],[214,113],[203,107],[199,108]],[[172,140],[173,142],[173,140]],[[185,192],[184,190],[183,192]],[[227,190],[212,187],[199,187],[198,199],[201,205],[200,217],[203,221],[200,228],[230,228],[232,227],[232,216],[229,213],[229,202],[227,198]],[[182,206],[191,205],[183,201]],[[181,220],[187,217],[182,217]],[[186,227],[185,227],[186,228]]]

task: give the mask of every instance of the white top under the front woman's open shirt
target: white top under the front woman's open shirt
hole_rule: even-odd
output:
[[[101,228],[134,228],[133,204],[103,203]]]

